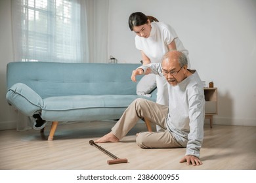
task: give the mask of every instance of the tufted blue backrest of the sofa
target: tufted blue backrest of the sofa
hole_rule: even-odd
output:
[[[65,95],[136,95],[131,71],[139,64],[12,62],[7,88],[24,83],[43,99]]]

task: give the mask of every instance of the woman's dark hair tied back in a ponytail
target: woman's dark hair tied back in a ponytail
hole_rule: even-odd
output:
[[[131,31],[133,31],[134,26],[146,24],[148,20],[150,20],[150,22],[159,22],[158,19],[154,18],[154,16],[146,16],[142,12],[133,12],[129,17],[128,24]]]

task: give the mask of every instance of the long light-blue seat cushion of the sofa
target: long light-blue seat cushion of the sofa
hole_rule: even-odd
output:
[[[43,99],[42,118],[49,121],[115,120],[138,95],[72,95]],[[147,98],[148,99],[148,98]]]

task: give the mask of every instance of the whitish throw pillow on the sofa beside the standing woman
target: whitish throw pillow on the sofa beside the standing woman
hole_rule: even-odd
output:
[[[151,97],[149,95],[156,88],[156,75],[144,75],[137,84],[137,95]]]

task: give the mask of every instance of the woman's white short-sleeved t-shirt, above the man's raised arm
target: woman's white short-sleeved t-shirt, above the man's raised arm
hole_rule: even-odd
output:
[[[161,62],[163,55],[168,52],[168,44],[175,40],[176,48],[188,58],[188,50],[186,50],[177,36],[177,33],[170,25],[163,22],[151,22],[150,37],[144,38],[135,36],[135,46],[138,50],[142,50],[150,59],[151,63]]]

